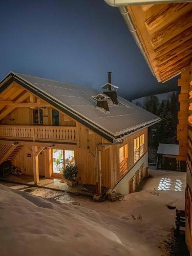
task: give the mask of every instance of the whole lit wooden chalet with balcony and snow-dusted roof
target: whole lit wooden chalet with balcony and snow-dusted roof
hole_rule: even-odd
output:
[[[104,91],[11,72],[0,84],[0,164],[24,175],[62,178],[69,161],[79,184],[134,191],[147,175],[147,127],[157,116]]]

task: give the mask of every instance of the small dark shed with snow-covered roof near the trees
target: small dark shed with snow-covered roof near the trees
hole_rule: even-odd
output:
[[[178,144],[160,143],[157,155],[157,168],[186,172],[185,161],[178,161],[176,158],[179,155]]]

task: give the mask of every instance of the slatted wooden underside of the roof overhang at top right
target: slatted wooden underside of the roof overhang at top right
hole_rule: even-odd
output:
[[[192,3],[127,6],[158,81],[192,61]]]

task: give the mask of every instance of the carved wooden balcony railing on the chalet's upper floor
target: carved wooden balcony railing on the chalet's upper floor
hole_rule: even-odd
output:
[[[41,125],[0,125],[0,138],[17,138],[32,141],[75,141],[76,127]]]

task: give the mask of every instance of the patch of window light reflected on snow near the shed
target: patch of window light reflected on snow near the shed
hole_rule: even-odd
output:
[[[159,182],[158,190],[183,191],[183,183],[178,179],[162,178]]]

